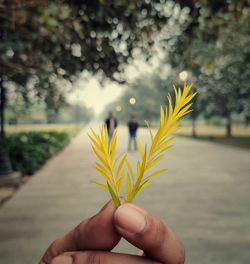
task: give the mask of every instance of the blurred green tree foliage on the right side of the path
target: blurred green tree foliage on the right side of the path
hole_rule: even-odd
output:
[[[164,63],[170,63],[174,73],[188,70],[199,91],[196,108],[206,116],[225,118],[230,137],[232,113],[249,118],[249,1],[179,2],[192,4],[190,10],[196,11],[190,11],[190,22],[172,39]]]

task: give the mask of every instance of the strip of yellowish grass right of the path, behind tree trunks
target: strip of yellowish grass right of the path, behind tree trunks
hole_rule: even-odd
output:
[[[198,123],[196,127],[197,139],[207,140],[219,144],[250,149],[250,126],[237,124],[232,126],[232,138],[225,137],[225,127]],[[192,127],[186,123],[176,133],[179,136],[191,137]]]

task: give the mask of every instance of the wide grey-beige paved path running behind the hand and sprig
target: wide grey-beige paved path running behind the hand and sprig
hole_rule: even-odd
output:
[[[145,138],[141,129],[139,136]],[[119,151],[127,134],[120,128]],[[179,234],[188,264],[250,263],[250,152],[177,138],[162,162],[166,175],[135,201]],[[130,154],[135,160],[136,153]],[[109,197],[90,183],[93,155],[86,131],[0,208],[0,263],[33,264],[48,244]],[[122,243],[119,250],[134,252]]]

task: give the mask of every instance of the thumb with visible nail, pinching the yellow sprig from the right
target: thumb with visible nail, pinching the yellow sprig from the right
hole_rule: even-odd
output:
[[[166,264],[183,264],[184,248],[174,232],[146,210],[121,205],[114,214],[118,232],[146,256]]]

